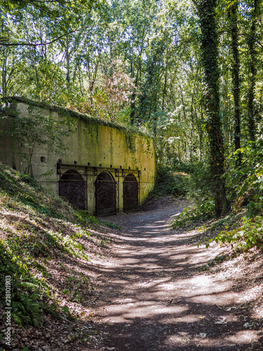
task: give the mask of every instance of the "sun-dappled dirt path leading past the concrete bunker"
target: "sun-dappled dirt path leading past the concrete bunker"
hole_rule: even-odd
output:
[[[198,248],[193,231],[170,230],[180,211],[177,203],[109,218],[122,230],[97,271],[97,350],[263,350],[262,316],[249,305],[262,291],[235,289],[233,270],[201,272],[222,249]]]

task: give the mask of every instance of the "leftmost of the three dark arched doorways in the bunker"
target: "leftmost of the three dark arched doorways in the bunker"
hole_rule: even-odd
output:
[[[86,182],[78,171],[70,169],[62,174],[59,194],[76,210],[86,210]]]

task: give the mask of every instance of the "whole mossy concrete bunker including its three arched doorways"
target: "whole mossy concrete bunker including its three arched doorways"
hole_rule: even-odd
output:
[[[16,140],[6,131],[14,119],[36,115],[40,121],[53,119],[60,128],[70,119],[71,131],[62,137],[66,152],[54,152],[48,143],[36,145],[29,167],[21,157],[24,150],[15,152]],[[154,187],[154,143],[139,131],[18,97],[6,98],[0,130],[0,161],[21,173],[30,169],[43,187],[88,215],[137,211]]]

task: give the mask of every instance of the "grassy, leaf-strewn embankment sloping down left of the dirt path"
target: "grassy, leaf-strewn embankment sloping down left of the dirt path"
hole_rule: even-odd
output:
[[[92,296],[93,282],[77,267],[102,255],[109,240],[90,228],[96,225],[111,224],[77,213],[0,163],[1,308],[10,276],[14,324],[39,326],[47,314],[74,319],[85,313],[80,303]]]

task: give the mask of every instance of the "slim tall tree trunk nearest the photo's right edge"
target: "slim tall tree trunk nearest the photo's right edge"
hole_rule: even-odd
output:
[[[255,141],[255,34],[257,20],[257,5],[258,0],[254,0],[254,8],[252,9],[252,24],[250,36],[248,37],[248,48],[250,53],[250,86],[248,89],[248,134],[251,141]]]

